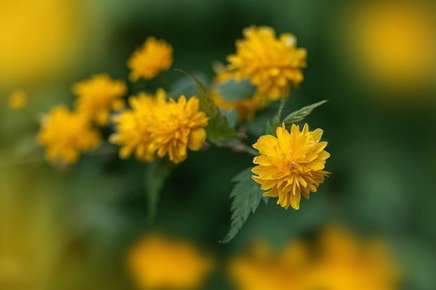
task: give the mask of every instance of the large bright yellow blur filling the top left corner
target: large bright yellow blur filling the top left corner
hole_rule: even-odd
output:
[[[38,83],[77,63],[80,1],[0,1],[0,88]]]

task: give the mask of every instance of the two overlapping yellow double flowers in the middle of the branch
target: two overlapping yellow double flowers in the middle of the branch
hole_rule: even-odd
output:
[[[198,99],[187,100],[184,95],[177,101],[165,99],[163,89],[157,90],[155,96],[129,98],[132,109],[115,118],[116,133],[110,137],[112,143],[122,146],[121,158],[135,152],[137,159],[149,162],[156,155],[168,154],[173,163],[180,163],[187,158],[187,148],[198,151],[203,147],[208,118],[198,111]]]

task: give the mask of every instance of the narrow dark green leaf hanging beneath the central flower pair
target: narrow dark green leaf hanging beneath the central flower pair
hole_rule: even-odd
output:
[[[157,159],[147,166],[144,186],[148,197],[148,222],[150,223],[155,219],[159,195],[174,166],[174,163],[168,159]]]

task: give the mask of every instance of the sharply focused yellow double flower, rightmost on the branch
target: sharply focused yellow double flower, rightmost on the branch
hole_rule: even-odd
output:
[[[302,131],[293,124],[289,133],[283,123],[276,134],[260,136],[254,143],[260,156],[253,159],[258,164],[251,170],[257,175],[253,179],[267,191],[264,196],[278,197],[277,204],[285,209],[299,209],[301,195],[309,199],[309,193],[315,193],[329,174],[322,170],[330,156],[324,150],[327,142],[320,142],[322,129],[309,131],[307,124]]]

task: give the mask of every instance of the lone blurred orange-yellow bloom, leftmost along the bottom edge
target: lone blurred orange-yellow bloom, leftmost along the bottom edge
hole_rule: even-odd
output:
[[[151,235],[134,245],[128,255],[132,277],[141,289],[198,289],[212,261],[186,241]]]

